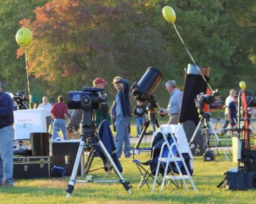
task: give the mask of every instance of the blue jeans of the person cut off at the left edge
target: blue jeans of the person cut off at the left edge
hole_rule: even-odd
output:
[[[0,184],[6,182],[13,186],[13,138],[12,125],[0,129]]]

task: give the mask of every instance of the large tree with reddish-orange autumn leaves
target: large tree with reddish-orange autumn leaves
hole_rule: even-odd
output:
[[[171,68],[165,40],[148,26],[136,1],[52,1],[35,9],[37,19],[20,23],[31,29],[29,71],[48,94],[91,86],[102,76],[140,79],[148,66]],[[19,56],[23,50],[18,50]],[[110,87],[110,92],[113,87]]]

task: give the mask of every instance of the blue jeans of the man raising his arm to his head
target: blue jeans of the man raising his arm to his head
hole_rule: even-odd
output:
[[[129,152],[129,117],[124,117],[123,115],[119,115],[116,118],[116,155],[117,157],[121,157],[121,153],[123,152],[123,144],[124,144],[124,156],[131,157],[131,153]]]

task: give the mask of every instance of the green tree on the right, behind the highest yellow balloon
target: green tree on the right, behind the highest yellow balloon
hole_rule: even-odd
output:
[[[143,12],[168,42],[176,76],[184,81],[183,68],[193,63],[175,29],[162,17],[162,8],[173,7],[176,28],[198,65],[210,66],[211,87],[238,87],[255,79],[255,1],[150,0]],[[248,81],[247,81],[248,82]]]

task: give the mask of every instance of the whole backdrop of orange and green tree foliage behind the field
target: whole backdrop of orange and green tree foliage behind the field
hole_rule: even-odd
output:
[[[157,97],[167,101],[165,82],[184,83],[193,63],[175,29],[162,16],[173,7],[176,28],[198,65],[210,66],[210,85],[236,88],[241,80],[255,90],[256,1],[242,0],[13,0],[1,2],[1,78],[14,87],[26,81],[23,49],[16,51],[21,26],[34,39],[27,47],[34,84],[50,95],[91,86],[96,77],[138,81],[148,66],[165,79]],[[45,4],[46,3],[46,4]],[[113,86],[107,86],[115,94]],[[163,91],[164,90],[164,91]],[[167,103],[167,102],[166,102]]]

